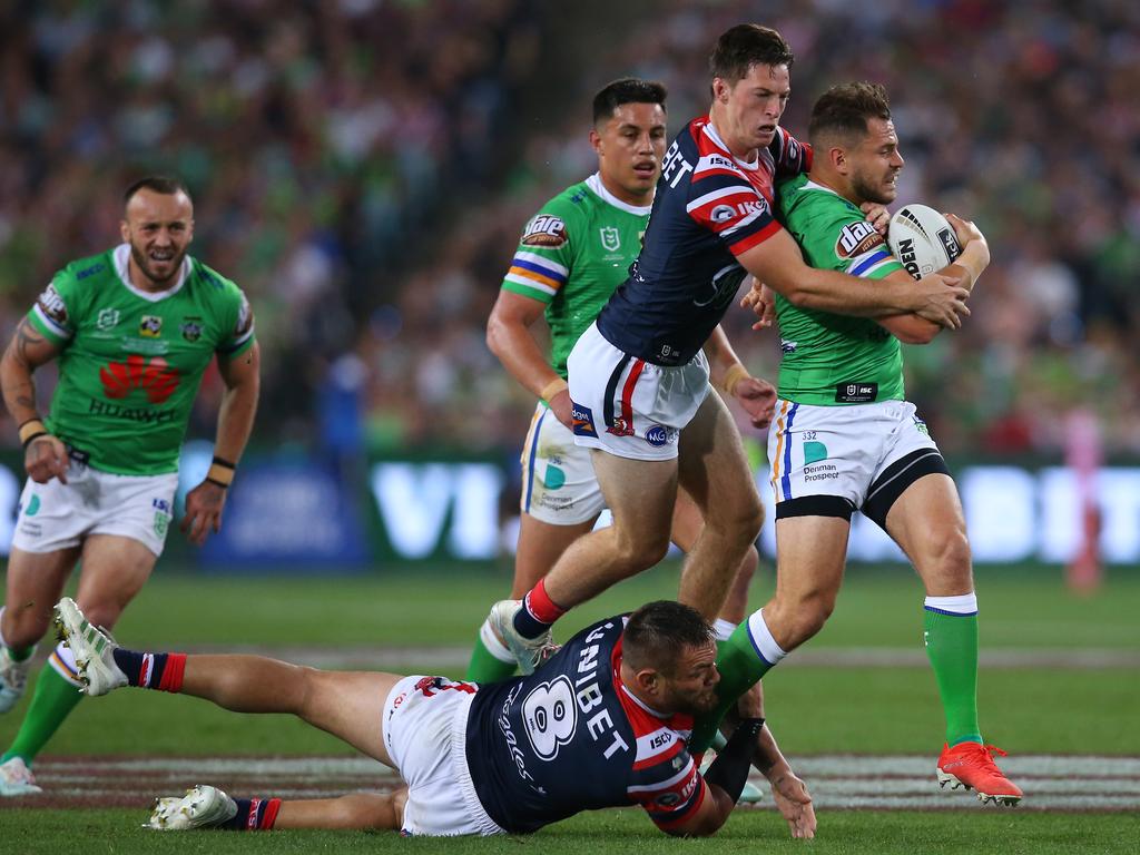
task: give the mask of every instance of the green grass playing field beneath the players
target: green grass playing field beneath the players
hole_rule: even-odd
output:
[[[160,576],[128,611],[116,635],[139,648],[260,649],[321,663],[455,675],[464,668],[474,628],[507,584],[505,572],[407,568],[368,578]],[[754,603],[764,601],[769,585],[769,580],[757,583]],[[978,589],[984,651],[979,703],[987,740],[1009,750],[1013,764],[1027,755],[1140,758],[1135,726],[1140,576],[1110,579],[1097,596],[1076,598],[1065,591],[1056,570],[980,570]],[[676,568],[659,569],[569,616],[560,634],[675,591]],[[942,717],[921,651],[921,589],[913,577],[901,570],[856,569],[823,633],[766,678],[772,726],[785,752],[815,771],[817,797],[836,791],[821,756],[852,754],[904,756],[899,763],[920,769],[896,777],[885,774],[881,763],[871,769],[869,762],[868,776],[881,777],[876,787],[885,792],[896,787],[923,798],[927,788],[938,792],[933,765],[942,742]],[[22,711],[23,706],[0,718],[0,743],[10,741]],[[347,747],[286,717],[242,717],[194,699],[119,692],[80,705],[48,747],[40,768],[47,780],[48,771],[63,768],[55,764],[71,756],[95,767],[99,757],[107,758],[104,766],[113,757],[201,758],[185,762],[193,767],[206,758],[236,756],[247,758],[252,767],[254,758],[263,756],[348,762],[349,755]],[[931,772],[925,777],[921,769],[927,765]],[[1096,779],[1093,774],[1089,780]],[[1100,784],[1113,791],[1118,783],[1140,796],[1138,780],[1140,774],[1127,772],[1121,782]],[[611,811],[575,817],[532,838],[440,842],[332,832],[158,838],[137,828],[145,819],[145,800],[130,808],[51,811],[21,799],[0,803],[0,852],[58,853],[73,848],[76,836],[88,841],[84,853],[252,853],[268,847],[275,853],[344,852],[396,846],[463,853],[523,846],[540,847],[544,855],[580,853],[584,847],[608,855],[632,847],[727,853],[759,846],[779,853],[803,852],[806,846],[813,853],[1007,855],[1140,848],[1140,814],[1134,808],[1042,811],[1042,804],[1052,804],[1044,798],[1047,790],[1080,791],[1091,784],[1066,784],[1064,776],[1031,777],[1026,783],[1032,784],[1026,787],[1028,798],[1017,812],[982,809],[961,792],[938,793],[947,800],[939,806],[961,809],[919,812],[847,809],[841,798],[821,797],[820,832],[812,844],[787,839],[771,808],[740,809],[717,838],[705,841],[669,840],[637,812]],[[1037,809],[1033,785],[1039,788]],[[1096,798],[1088,804],[1096,807]]]

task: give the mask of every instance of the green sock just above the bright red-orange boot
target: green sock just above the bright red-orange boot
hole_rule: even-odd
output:
[[[980,742],[978,727],[978,614],[926,609],[927,656],[946,714],[946,742]]]

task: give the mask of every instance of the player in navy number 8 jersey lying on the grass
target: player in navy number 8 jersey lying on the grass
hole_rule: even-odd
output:
[[[815,833],[807,788],[764,719],[740,722],[699,772],[689,739],[694,720],[717,706],[720,675],[711,627],[681,603],[649,603],[595,624],[539,674],[487,686],[254,656],[136,652],[92,627],[67,597],[56,605],[56,626],[88,694],[133,685],[238,712],[291,712],[391,766],[407,784],[386,795],[298,801],[234,800],[196,787],[156,803],[152,828],[520,833],[580,811],[641,805],[667,833],[703,836],[728,819],[756,763],[792,836]]]

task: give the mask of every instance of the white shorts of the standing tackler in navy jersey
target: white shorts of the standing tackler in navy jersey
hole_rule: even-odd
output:
[[[681,431],[710,389],[703,351],[685,365],[652,365],[610,344],[596,324],[567,367],[575,442],[636,461],[676,458]]]

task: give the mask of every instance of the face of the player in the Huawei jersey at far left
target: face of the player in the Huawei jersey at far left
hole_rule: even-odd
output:
[[[120,231],[139,271],[150,284],[165,286],[178,275],[194,238],[194,206],[185,193],[144,187],[127,203]]]

